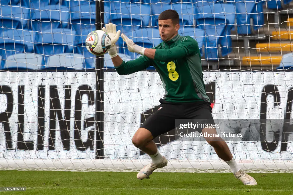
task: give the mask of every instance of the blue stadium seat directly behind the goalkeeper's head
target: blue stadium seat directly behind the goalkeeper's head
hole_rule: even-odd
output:
[[[191,3],[176,3],[176,4],[161,4],[151,5],[152,8],[152,26],[158,26],[159,15],[162,11],[167,9],[176,10],[179,14],[179,24],[180,26],[193,26],[193,4]]]

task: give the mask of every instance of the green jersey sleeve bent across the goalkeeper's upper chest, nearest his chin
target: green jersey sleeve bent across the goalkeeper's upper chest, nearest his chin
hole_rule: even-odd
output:
[[[195,54],[198,49],[198,43],[191,37],[183,37],[181,42],[170,49],[156,49],[154,60],[172,61]],[[163,59],[163,60],[162,60]]]

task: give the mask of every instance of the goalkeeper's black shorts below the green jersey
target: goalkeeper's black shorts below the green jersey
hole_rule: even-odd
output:
[[[149,130],[154,138],[175,129],[175,119],[207,119],[209,124],[214,124],[210,102],[168,103],[160,99],[160,103],[158,110],[140,126]]]

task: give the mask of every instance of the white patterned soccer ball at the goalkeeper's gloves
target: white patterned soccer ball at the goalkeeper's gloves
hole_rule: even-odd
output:
[[[111,38],[103,30],[95,30],[86,37],[86,49],[96,56],[104,55],[111,47]]]

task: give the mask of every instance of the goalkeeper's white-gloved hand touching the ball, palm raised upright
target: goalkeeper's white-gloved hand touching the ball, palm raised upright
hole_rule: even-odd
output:
[[[116,25],[113,23],[106,24],[106,27],[103,27],[102,30],[104,32],[107,32],[111,38],[111,47],[108,50],[108,53],[111,58],[114,58],[118,55],[116,42],[119,39],[121,31],[120,30],[116,31]]]

